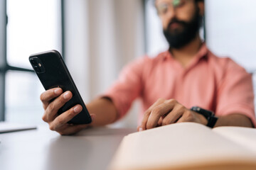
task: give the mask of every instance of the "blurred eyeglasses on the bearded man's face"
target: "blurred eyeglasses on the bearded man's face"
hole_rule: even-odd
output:
[[[188,0],[170,0],[165,2],[160,2],[156,4],[156,10],[159,15],[164,15],[169,12],[171,6],[173,6],[174,9],[181,8],[182,6],[186,5]]]

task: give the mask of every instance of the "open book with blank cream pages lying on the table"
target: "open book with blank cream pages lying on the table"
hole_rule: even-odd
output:
[[[122,140],[109,166],[124,169],[256,169],[256,129],[176,123]]]

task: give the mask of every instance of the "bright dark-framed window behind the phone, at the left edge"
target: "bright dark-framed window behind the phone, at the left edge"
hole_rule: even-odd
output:
[[[43,86],[31,70],[29,55],[46,50],[62,52],[60,0],[6,0],[6,55],[0,79],[5,84],[0,120],[15,123],[42,123],[43,108],[39,100]],[[6,16],[6,13],[1,15]],[[4,17],[3,17],[4,18]],[[5,35],[5,33],[2,33]],[[2,46],[2,45],[1,45]],[[1,50],[2,52],[2,50]]]

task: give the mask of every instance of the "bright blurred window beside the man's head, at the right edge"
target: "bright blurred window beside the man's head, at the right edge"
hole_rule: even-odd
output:
[[[256,1],[206,1],[207,45],[230,56],[248,71],[256,69]]]

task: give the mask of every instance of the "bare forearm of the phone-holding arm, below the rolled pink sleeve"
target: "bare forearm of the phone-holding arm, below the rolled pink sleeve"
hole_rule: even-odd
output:
[[[98,98],[86,105],[90,114],[95,114],[92,126],[102,126],[117,120],[117,109],[108,98]]]

